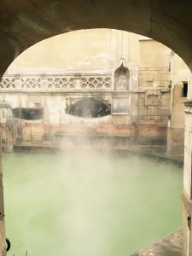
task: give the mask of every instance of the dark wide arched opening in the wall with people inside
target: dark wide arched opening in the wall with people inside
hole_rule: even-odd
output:
[[[99,100],[84,98],[73,103],[67,113],[84,118],[99,118],[110,114],[111,111],[106,104]]]

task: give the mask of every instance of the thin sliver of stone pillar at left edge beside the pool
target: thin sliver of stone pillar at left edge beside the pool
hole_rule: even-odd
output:
[[[3,201],[2,137],[0,131],[0,256],[4,255],[6,255],[6,241]]]

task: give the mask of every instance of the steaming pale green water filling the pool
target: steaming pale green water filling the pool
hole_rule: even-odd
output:
[[[3,154],[8,255],[129,256],[182,226],[183,170],[94,151]]]

